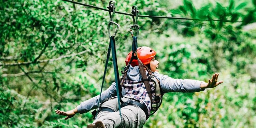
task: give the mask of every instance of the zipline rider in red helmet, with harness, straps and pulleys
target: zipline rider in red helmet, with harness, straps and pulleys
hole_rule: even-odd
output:
[[[95,120],[87,128],[141,128],[148,117],[153,115],[162,102],[163,94],[169,92],[194,93],[203,91],[206,88],[214,88],[223,81],[217,81],[219,74],[213,74],[208,83],[198,80],[173,79],[158,71],[159,62],[155,59],[154,49],[142,46],[138,47],[139,35],[138,8],[132,6],[133,25],[130,28],[132,35],[132,51],[125,59],[126,66],[119,79],[118,66],[115,50],[115,35],[118,31],[118,24],[113,22],[115,12],[114,2],[109,3],[110,22],[108,31],[110,43],[108,48],[105,70],[103,74],[101,93],[89,100],[82,102],[75,109],[70,111],[55,110],[56,114],[73,117],[76,113],[93,112]],[[111,15],[112,12],[112,15]],[[110,25],[116,25],[114,35],[110,35]],[[132,28],[137,28],[137,35],[134,36]],[[106,68],[112,49],[112,58],[115,72],[115,82],[102,92]]]

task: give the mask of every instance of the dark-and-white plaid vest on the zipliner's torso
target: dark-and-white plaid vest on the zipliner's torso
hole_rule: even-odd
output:
[[[121,82],[122,83],[122,82]],[[154,92],[155,86],[153,82],[149,81],[151,90]],[[150,115],[151,111],[156,110],[156,108],[160,105],[161,97],[152,94],[152,110],[150,97],[147,94],[147,90],[143,81],[131,81],[127,77],[125,78],[125,82],[123,87],[126,89],[125,96],[133,97],[135,100],[140,101],[142,104],[147,106],[148,114]]]

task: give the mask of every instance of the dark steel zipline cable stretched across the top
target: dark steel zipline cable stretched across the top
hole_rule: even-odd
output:
[[[67,1],[67,2],[71,2],[71,3],[87,6],[87,7],[90,7],[90,8],[95,8],[95,9],[99,9],[99,10],[110,12],[110,10],[108,10],[108,9],[103,9],[103,8],[100,8],[100,7],[97,7],[97,6],[93,6],[93,5],[89,5],[89,4],[84,4],[84,3],[75,2],[75,1],[71,1],[71,0],[62,0],[62,1]],[[128,16],[135,16],[135,15],[132,15],[132,14],[129,14],[129,13],[123,13],[123,12],[118,12],[118,11],[115,11],[115,13],[123,14],[123,15],[128,15]],[[184,19],[184,20],[232,22],[231,20],[221,20],[221,19],[196,19],[196,18],[183,18],[183,17],[151,16],[151,15],[138,15],[138,16],[139,17],[148,17],[148,18],[167,18],[167,19]],[[237,22],[241,22],[241,21],[237,21]]]

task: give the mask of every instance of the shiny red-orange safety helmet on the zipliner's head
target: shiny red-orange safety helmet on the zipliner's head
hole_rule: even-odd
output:
[[[152,48],[146,47],[146,46],[138,47],[137,54],[138,54],[139,59],[141,60],[141,62],[144,65],[149,64],[151,59],[156,56],[156,52]],[[126,65],[128,65],[129,61],[131,60],[131,56],[132,56],[132,51],[127,55],[127,57],[125,59]],[[138,60],[133,59],[131,62],[131,66],[134,67],[137,65],[139,65]]]

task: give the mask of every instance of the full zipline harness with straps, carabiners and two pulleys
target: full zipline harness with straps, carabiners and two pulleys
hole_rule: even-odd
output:
[[[116,82],[116,95],[117,95],[117,99],[118,99],[118,107],[119,107],[120,117],[122,118],[121,108],[123,108],[126,105],[133,104],[133,105],[139,106],[144,111],[144,113],[146,114],[146,118],[148,118],[150,115],[154,114],[157,111],[157,109],[159,108],[159,106],[161,105],[163,92],[161,91],[160,82],[155,78],[154,73],[151,70],[149,70],[141,62],[141,60],[138,58],[138,54],[137,54],[137,47],[138,47],[137,39],[138,39],[138,36],[139,36],[139,29],[140,29],[140,26],[137,24],[138,13],[139,13],[138,7],[137,6],[132,6],[132,12],[131,12],[134,16],[136,16],[136,18],[134,18],[134,16],[132,16],[133,25],[130,27],[130,33],[131,33],[131,36],[132,36],[132,56],[131,56],[130,61],[128,62],[128,65],[125,67],[125,70],[122,71],[123,75],[120,78],[119,78],[119,73],[118,73],[118,65],[117,65],[117,60],[116,60],[116,49],[115,49],[115,35],[116,35],[117,31],[118,31],[119,25],[117,23],[113,22],[113,17],[114,17],[114,14],[115,14],[115,4],[114,4],[113,1],[109,2],[108,9],[110,10],[110,12],[109,12],[110,22],[108,24],[108,31],[109,31],[110,42],[109,42],[109,48],[108,48],[108,53],[107,53],[107,58],[106,58],[106,63],[105,63],[103,80],[102,80],[102,84],[101,84],[100,97],[99,97],[99,101],[98,101],[98,109],[97,109],[97,111],[96,110],[93,111],[92,114],[94,115],[94,117],[96,119],[97,118],[97,114],[98,114],[99,111],[114,112],[113,110],[111,110],[109,108],[101,108],[101,94],[102,94],[103,84],[104,84],[104,80],[105,80],[106,69],[108,67],[110,52],[111,52],[111,49],[112,49],[112,58],[113,58],[113,66],[114,66],[115,82]],[[111,12],[112,12],[112,15],[111,15]],[[116,25],[117,28],[116,28],[116,30],[114,32],[114,35],[111,36],[110,35],[110,25],[113,25],[113,24]],[[133,35],[132,28],[137,28],[137,35],[136,36]],[[122,93],[122,91],[125,91],[125,89],[123,88],[123,85],[124,85],[124,82],[125,82],[125,78],[126,78],[128,69],[129,69],[130,64],[131,64],[133,59],[136,59],[138,61],[138,63],[139,63],[139,70],[140,70],[140,73],[142,75],[142,82],[144,83],[146,91],[147,91],[147,94],[150,97],[151,110],[152,110],[152,104],[153,104],[152,94],[155,93],[156,97],[160,97],[160,102],[159,102],[160,104],[158,103],[155,106],[154,112],[151,113],[150,115],[148,114],[146,106],[143,105],[142,103],[137,102],[137,101],[132,101],[130,99],[127,102],[123,102],[122,99],[120,99],[120,97],[121,98],[124,97],[124,95]],[[147,70],[147,72],[149,74],[148,77],[146,75],[146,71],[145,71],[144,68]],[[120,81],[122,83],[120,83]],[[150,86],[150,83],[149,83],[150,81],[153,82],[153,84],[155,86],[155,90],[154,91],[151,90],[151,86]],[[122,103],[121,105],[120,105],[120,102]]]

